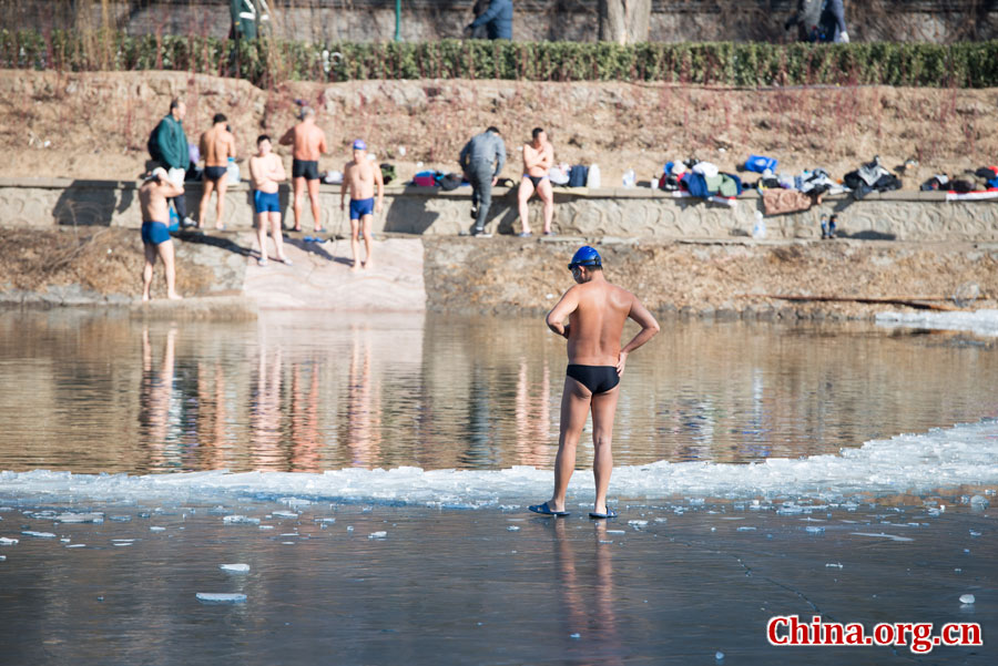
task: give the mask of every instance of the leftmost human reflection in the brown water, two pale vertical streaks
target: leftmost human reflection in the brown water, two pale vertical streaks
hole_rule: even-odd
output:
[[[176,329],[166,334],[163,351],[163,363],[159,372],[153,371],[152,345],[149,342],[149,328],[142,329],[142,388],[139,391],[139,423],[145,433],[150,450],[149,468],[161,469],[169,463],[179,463],[175,455],[170,455],[166,448],[166,434],[170,430],[170,400],[173,397],[173,362]],[[169,460],[173,458],[174,460]]]

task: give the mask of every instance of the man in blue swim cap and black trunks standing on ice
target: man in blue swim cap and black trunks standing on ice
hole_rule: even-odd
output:
[[[564,293],[547,318],[548,328],[568,339],[569,357],[561,397],[561,434],[554,458],[554,494],[543,504],[529,509],[542,515],[569,514],[564,509],[564,493],[576,469],[576,447],[585,417],[592,410],[592,473],[597,496],[589,518],[615,518],[617,512],[607,506],[607,489],[613,471],[610,442],[620,378],[628,356],[659,332],[659,322],[633,294],[607,281],[595,249],[588,245],[580,247],[569,269],[578,284]],[[621,349],[620,337],[629,317],[641,330]],[[566,318],[568,326],[563,325]]]

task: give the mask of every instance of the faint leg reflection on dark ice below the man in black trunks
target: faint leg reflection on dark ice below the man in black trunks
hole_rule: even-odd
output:
[[[593,524],[593,566],[576,563],[574,545],[566,527],[567,521],[554,521],[554,563],[558,567],[558,592],[567,624],[563,635],[579,634],[588,642],[587,656],[593,663],[622,664],[623,652],[617,632],[613,592],[613,545],[607,539],[607,522]]]

